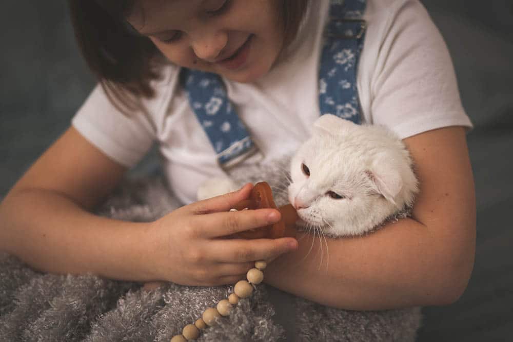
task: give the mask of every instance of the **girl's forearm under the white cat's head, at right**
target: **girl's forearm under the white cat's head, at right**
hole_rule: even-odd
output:
[[[401,219],[365,237],[306,235],[299,249],[274,260],[265,281],[317,303],[349,310],[443,305],[464,291],[473,265],[472,237],[455,242],[450,227],[435,234]],[[471,234],[470,234],[471,235]],[[303,259],[315,240],[310,254]]]

